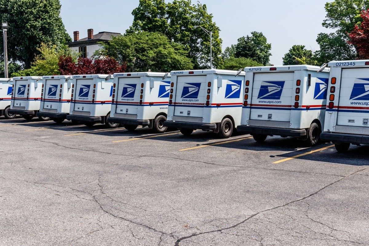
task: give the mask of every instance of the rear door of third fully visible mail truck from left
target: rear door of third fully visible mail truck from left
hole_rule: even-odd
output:
[[[93,90],[93,79],[77,79],[74,104],[75,111],[90,112]]]

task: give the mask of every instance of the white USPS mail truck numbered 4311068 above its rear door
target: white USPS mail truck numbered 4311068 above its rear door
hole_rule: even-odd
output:
[[[213,130],[229,138],[241,123],[244,72],[193,70],[170,72],[167,127],[183,135]]]

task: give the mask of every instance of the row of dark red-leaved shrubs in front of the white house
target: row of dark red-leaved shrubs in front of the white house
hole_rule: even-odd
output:
[[[78,58],[74,63],[70,56],[59,57],[59,71],[62,75],[89,75],[89,74],[113,74],[123,73],[125,65],[121,66],[114,58],[92,60],[90,58]]]

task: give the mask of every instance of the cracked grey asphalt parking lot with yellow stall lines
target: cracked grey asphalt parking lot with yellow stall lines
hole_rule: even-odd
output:
[[[0,118],[0,245],[369,245],[368,146]]]

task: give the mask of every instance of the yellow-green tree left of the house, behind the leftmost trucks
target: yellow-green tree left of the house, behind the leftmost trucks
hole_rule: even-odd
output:
[[[12,73],[13,77],[19,76],[46,76],[46,75],[60,75],[59,72],[59,57],[72,56],[76,61],[78,53],[73,53],[68,46],[63,45],[61,48],[51,44],[41,43],[40,48],[37,48],[40,55],[35,57],[31,68]]]

